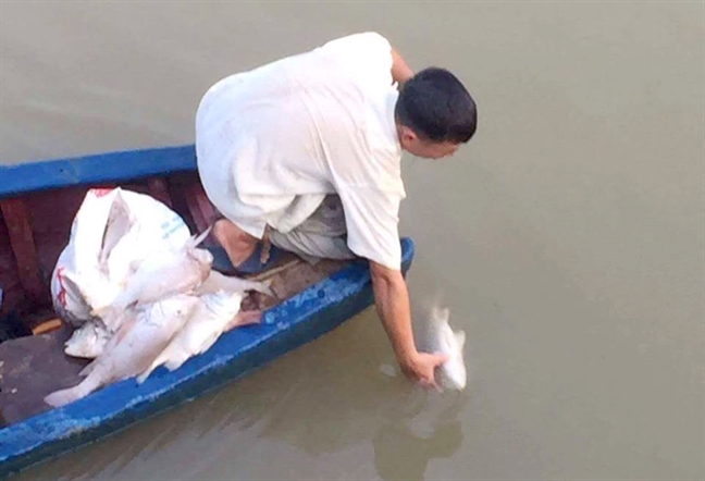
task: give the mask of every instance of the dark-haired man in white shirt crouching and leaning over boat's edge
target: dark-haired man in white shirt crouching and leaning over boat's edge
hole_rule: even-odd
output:
[[[475,123],[453,74],[415,75],[375,33],[226,77],[196,115],[201,182],[225,218],[213,234],[236,269],[265,262],[270,243],[304,258],[368,259],[403,371],[433,386],[446,357],[417,350],[400,272],[401,150],[452,156]]]

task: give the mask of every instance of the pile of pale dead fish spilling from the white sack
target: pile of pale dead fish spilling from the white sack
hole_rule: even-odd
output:
[[[104,270],[111,256],[120,252],[104,252],[119,244],[111,240],[106,245],[106,238],[111,237],[109,231],[120,224],[115,222],[115,212],[113,206],[106,223],[98,270]],[[267,295],[271,292],[263,283],[212,271],[211,254],[198,248],[207,234],[131,262],[120,291],[109,301],[91,298],[85,295],[85,288],[82,291],[90,313],[85,316],[65,350],[94,360],[82,371],[83,382],[49,394],[45,398],[47,404],[63,406],[133,377],[141,383],[159,366],[174,370],[206,351],[223,332],[259,322],[261,312],[242,311],[242,301],[248,291]]]

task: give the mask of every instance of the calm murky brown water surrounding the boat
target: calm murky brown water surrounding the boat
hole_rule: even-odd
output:
[[[215,81],[367,29],[481,114],[454,159],[405,168],[412,297],[468,332],[465,393],[385,375],[367,311],[17,479],[703,479],[703,13],[2,0],[3,163],[190,143]]]

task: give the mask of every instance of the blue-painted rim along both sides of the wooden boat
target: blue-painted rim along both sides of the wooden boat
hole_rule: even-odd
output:
[[[0,168],[0,198],[196,169],[193,146],[135,150]],[[401,239],[403,271],[413,242]],[[0,478],[113,434],[199,397],[336,328],[373,301],[367,262],[354,263],[268,310],[261,324],[222,335],[180,369],[157,369],[138,385],[112,384],[0,430]]]

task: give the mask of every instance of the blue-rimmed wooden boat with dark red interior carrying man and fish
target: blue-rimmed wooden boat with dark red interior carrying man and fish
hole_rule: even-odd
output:
[[[8,353],[30,353],[33,343],[49,345],[51,336],[61,331],[38,334],[47,319],[55,318],[48,287],[53,264],[87,189],[118,185],[164,201],[191,231],[200,232],[213,220],[214,209],[198,181],[193,145],[0,166],[0,318],[5,323],[13,316],[23,321],[15,329],[21,336],[0,343],[0,409],[35,406],[27,412],[0,411],[4,424],[0,428],[0,478],[199,397],[314,340],[372,304],[366,262],[324,261],[323,268],[309,267],[311,271],[284,300],[264,306],[261,324],[222,335],[211,349],[180,369],[169,372],[160,368],[141,385],[126,380],[63,408],[37,408],[49,391],[42,383],[60,382],[61,378],[42,374],[44,370],[58,369],[64,362],[65,372],[75,375],[81,365],[65,358],[60,338],[54,340],[54,359],[42,362],[42,356],[50,354],[40,351],[25,362],[32,372],[24,375],[12,370],[18,360],[10,359]],[[406,272],[413,258],[413,243],[403,238],[401,245]],[[286,269],[274,275],[287,275]],[[296,282],[289,279],[290,284]],[[51,322],[55,325],[58,321]],[[36,335],[22,336],[33,332]],[[13,405],[12,399],[21,402]]]

